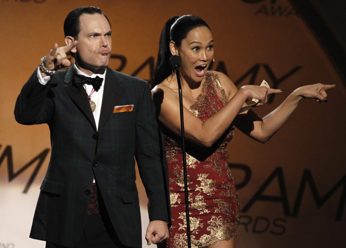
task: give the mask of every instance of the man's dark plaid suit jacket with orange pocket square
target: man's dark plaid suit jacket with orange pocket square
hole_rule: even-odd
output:
[[[48,124],[51,138],[51,158],[30,237],[75,246],[95,178],[119,239],[141,247],[135,160],[149,199],[149,219],[170,220],[167,168],[160,158],[149,85],[107,68],[97,131],[87,93],[73,85],[73,75],[71,67],[42,85],[35,71],[16,102],[16,120]],[[113,113],[121,105],[133,105],[133,110]]]

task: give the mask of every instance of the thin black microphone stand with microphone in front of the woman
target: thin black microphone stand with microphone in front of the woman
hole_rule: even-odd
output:
[[[176,79],[178,81],[178,91],[179,91],[179,106],[180,106],[180,129],[181,129],[181,150],[182,150],[182,162],[183,162],[183,174],[184,174],[184,191],[185,191],[185,211],[186,211],[186,234],[187,234],[187,247],[191,248],[191,237],[190,237],[190,213],[189,213],[189,196],[187,187],[187,171],[186,171],[186,154],[185,154],[185,131],[184,131],[184,114],[182,105],[182,92],[181,92],[181,82],[179,76],[178,65],[173,66]]]

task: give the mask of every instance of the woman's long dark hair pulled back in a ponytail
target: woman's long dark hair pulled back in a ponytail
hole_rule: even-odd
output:
[[[152,87],[164,81],[172,73],[169,63],[169,59],[172,56],[170,41],[174,41],[175,46],[180,48],[181,41],[186,38],[191,30],[198,27],[207,27],[211,30],[202,18],[195,15],[173,16],[166,22],[160,36],[159,53],[157,55]]]

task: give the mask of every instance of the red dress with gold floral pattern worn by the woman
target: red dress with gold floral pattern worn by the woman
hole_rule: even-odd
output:
[[[227,102],[218,77],[208,72],[202,93],[189,111],[202,121]],[[238,195],[227,162],[226,146],[234,134],[231,125],[211,148],[185,142],[190,238],[192,248],[206,248],[237,235]],[[169,166],[172,209],[169,248],[186,248],[186,212],[181,137],[163,127]]]

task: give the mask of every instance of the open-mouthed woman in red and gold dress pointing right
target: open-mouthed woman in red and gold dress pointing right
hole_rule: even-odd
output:
[[[181,59],[191,244],[234,248],[238,197],[226,159],[226,145],[232,139],[234,126],[265,143],[285,124],[303,98],[326,102],[326,90],[335,85],[299,87],[263,119],[252,110],[240,113],[248,99],[258,99],[257,105],[263,105],[268,94],[282,90],[256,85],[237,89],[226,75],[208,71],[214,60],[214,40],[208,24],[193,15],[169,19],[160,38],[152,94],[169,164],[173,221],[167,241],[170,248],[187,247],[179,95],[176,74],[169,65],[172,55]]]

